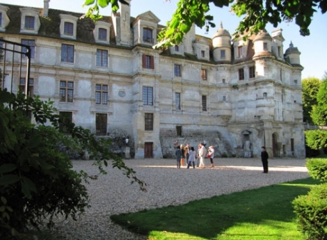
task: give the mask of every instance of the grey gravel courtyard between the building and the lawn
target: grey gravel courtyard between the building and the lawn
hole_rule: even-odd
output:
[[[209,159],[205,159],[209,166]],[[90,175],[98,173],[93,161],[74,161],[75,170]],[[141,209],[182,205],[191,200],[255,189],[280,182],[309,177],[305,159],[269,159],[269,173],[262,174],[260,159],[214,159],[214,168],[177,169],[175,159],[126,160],[127,166],[147,183],[147,193],[137,184],[130,184],[116,168],[106,168],[108,174],[91,180],[87,186],[90,209],[77,222],[61,221],[56,227],[60,239],[111,240],[147,239],[111,222],[109,216]]]

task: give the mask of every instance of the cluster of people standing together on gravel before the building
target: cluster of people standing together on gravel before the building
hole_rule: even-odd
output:
[[[194,147],[191,147],[189,143],[186,143],[185,146],[181,144],[180,146],[177,146],[175,156],[177,160],[177,168],[184,166],[185,160],[187,168],[190,168],[190,166],[193,166],[193,168],[196,168],[196,166],[198,168],[205,168],[206,156],[210,159],[210,168],[214,167],[214,146],[210,146],[207,150],[204,143],[198,145],[197,151]]]

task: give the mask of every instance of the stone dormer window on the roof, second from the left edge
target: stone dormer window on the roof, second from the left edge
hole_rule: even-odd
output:
[[[20,33],[38,34],[41,23],[39,19],[40,10],[33,8],[19,8],[22,12],[22,19],[20,23]]]

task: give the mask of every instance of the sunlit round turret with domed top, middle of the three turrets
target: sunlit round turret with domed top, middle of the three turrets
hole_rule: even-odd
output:
[[[255,56],[260,55],[269,55],[271,54],[271,35],[267,33],[266,29],[260,31],[255,38],[253,39],[254,49],[255,49]]]

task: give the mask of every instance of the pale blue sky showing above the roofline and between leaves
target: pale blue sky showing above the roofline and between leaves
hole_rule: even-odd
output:
[[[82,7],[83,0],[50,0],[49,8],[67,10],[76,13],[86,13],[87,7]],[[43,8],[43,0],[0,0],[0,3],[8,3],[13,5],[29,6],[36,8]],[[154,15],[159,17],[161,22],[159,24],[166,25],[170,20],[175,9],[177,8],[177,0],[131,0],[131,17],[137,17],[141,13],[151,10]],[[241,18],[230,13],[230,8],[217,8],[212,5],[208,14],[214,16],[214,23],[216,28],[209,29],[206,33],[205,29],[196,29],[196,34],[204,35],[207,38],[212,38],[214,33],[223,24],[223,28],[228,30],[231,34],[237,28]],[[101,8],[102,15],[111,15],[111,8]],[[301,51],[300,59],[304,70],[302,72],[302,79],[308,77],[317,77],[322,79],[324,72],[327,72],[327,13],[322,15],[320,11],[312,18],[310,24],[310,36],[301,36],[299,27],[294,23],[282,23],[276,29],[282,29],[282,35],[285,38],[284,51],[289,48],[289,44],[293,43]],[[274,30],[272,25],[267,25],[266,30],[271,34]]]

